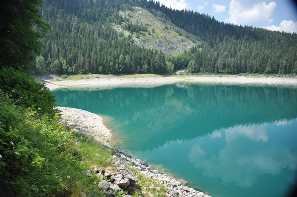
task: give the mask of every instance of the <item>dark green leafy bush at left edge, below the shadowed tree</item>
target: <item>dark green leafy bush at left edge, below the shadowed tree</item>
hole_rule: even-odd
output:
[[[0,89],[18,106],[40,108],[41,113],[48,113],[50,116],[56,112],[56,100],[49,89],[33,77],[29,77],[26,72],[15,71],[10,67],[2,68]]]

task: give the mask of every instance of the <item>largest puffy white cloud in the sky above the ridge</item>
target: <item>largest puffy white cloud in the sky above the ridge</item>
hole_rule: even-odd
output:
[[[226,22],[237,25],[265,26],[273,21],[272,15],[276,8],[276,2],[271,1],[268,4],[258,2],[250,6],[241,1],[230,1],[229,18],[226,18]]]

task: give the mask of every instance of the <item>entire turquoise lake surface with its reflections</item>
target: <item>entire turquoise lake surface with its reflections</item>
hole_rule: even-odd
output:
[[[105,117],[121,148],[213,197],[283,197],[297,172],[297,89],[172,84],[58,89]]]

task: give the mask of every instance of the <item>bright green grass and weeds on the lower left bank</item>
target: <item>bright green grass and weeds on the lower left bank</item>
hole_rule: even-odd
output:
[[[76,137],[39,110],[12,104],[0,92],[0,176],[15,196],[101,196],[85,172],[94,164],[106,167],[112,153],[86,138]],[[99,154],[100,156],[95,156]]]

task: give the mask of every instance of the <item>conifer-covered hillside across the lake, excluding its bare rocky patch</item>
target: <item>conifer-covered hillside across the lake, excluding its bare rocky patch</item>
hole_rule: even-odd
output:
[[[135,43],[137,37],[159,32],[150,31],[148,24],[129,22],[123,10],[133,11],[133,6],[162,12],[165,20],[184,29],[177,30],[179,36],[193,35],[199,44],[166,56],[158,48]],[[184,68],[190,73],[297,73],[297,34],[225,24],[151,0],[47,0],[42,16],[52,32],[36,59],[37,73],[166,74]],[[120,25],[130,34],[114,29]]]

